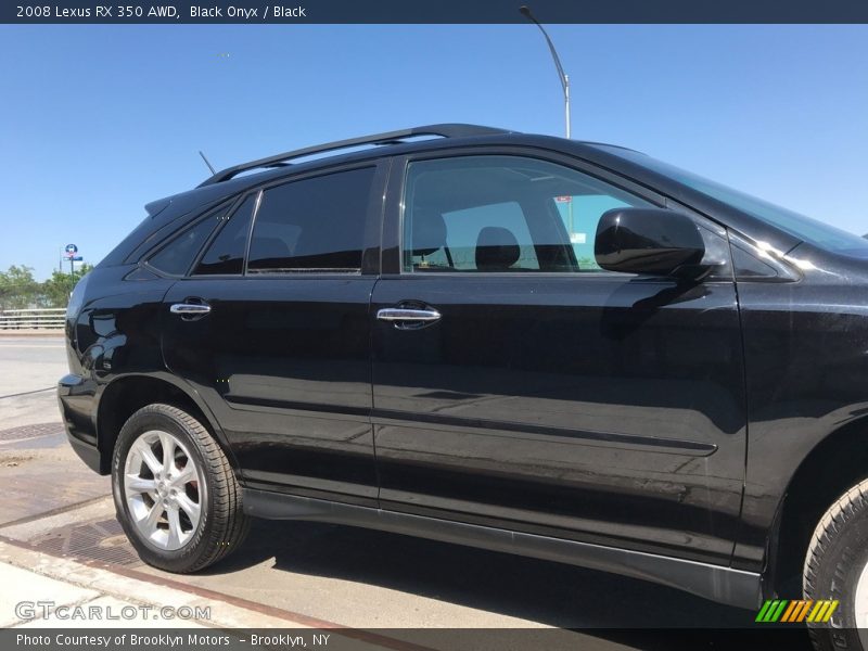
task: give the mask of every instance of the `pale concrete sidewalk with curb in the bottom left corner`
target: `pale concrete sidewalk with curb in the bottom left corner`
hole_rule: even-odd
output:
[[[4,586],[0,590],[0,630],[22,634],[35,635],[43,629],[200,629],[203,635],[208,631],[228,635],[229,641],[219,643],[229,651],[238,651],[256,644],[308,647],[297,637],[308,631],[305,637],[326,638],[335,651],[445,651],[303,614],[294,617],[294,613],[280,609],[159,580],[135,570],[110,570],[46,554],[4,536],[0,536],[0,585]],[[251,635],[254,630],[265,635],[256,644]],[[292,639],[284,641],[282,637]],[[192,648],[209,646],[202,642]],[[190,643],[187,648],[191,648]]]

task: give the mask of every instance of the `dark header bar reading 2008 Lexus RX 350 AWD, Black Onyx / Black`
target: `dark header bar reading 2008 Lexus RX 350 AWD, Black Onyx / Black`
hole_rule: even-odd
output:
[[[13,0],[7,24],[868,23],[867,0]]]

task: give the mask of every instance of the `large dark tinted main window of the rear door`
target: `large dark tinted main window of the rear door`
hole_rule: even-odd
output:
[[[358,271],[373,176],[368,167],[267,190],[247,271]]]

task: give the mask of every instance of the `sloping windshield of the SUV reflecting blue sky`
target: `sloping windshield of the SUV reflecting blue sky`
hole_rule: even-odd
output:
[[[824,224],[817,219],[805,217],[799,213],[781,208],[775,204],[756,199],[744,192],[727,188],[715,181],[704,179],[692,173],[679,169],[667,163],[662,163],[639,152],[625,150],[617,146],[610,145],[595,145],[599,149],[605,150],[609,153],[615,154],[622,158],[626,158],[633,163],[637,163],[642,167],[647,167],[658,174],[669,177],[692,188],[698,192],[702,192],[729,204],[742,213],[746,213],[762,219],[773,226],[778,227],[780,230],[799,238],[800,240],[813,244],[820,248],[839,253],[842,255],[852,255],[856,257],[868,258],[868,240],[859,235],[841,230],[828,224]]]

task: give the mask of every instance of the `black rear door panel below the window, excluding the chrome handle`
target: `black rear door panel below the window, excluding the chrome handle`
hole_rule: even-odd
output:
[[[375,279],[175,283],[163,306],[168,369],[203,396],[251,485],[376,498],[368,304]],[[184,320],[190,296],[210,314]]]

